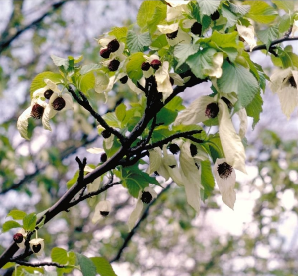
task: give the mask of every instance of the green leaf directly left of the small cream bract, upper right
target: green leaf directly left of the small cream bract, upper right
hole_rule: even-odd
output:
[[[213,48],[205,48],[187,58],[186,63],[191,68],[197,78],[204,79],[207,75],[203,73],[204,69],[213,68],[213,55],[216,50]]]

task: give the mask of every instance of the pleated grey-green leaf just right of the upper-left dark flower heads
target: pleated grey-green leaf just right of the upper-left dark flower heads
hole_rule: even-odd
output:
[[[136,34],[134,31],[128,31],[126,44],[131,53],[143,52],[144,48],[151,44],[151,36],[149,32]]]

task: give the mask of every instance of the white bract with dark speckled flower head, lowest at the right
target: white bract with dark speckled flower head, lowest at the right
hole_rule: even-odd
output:
[[[234,168],[226,163],[225,158],[218,158],[214,164],[213,173],[223,202],[231,209],[234,209],[236,201],[236,193],[234,191],[236,174]]]

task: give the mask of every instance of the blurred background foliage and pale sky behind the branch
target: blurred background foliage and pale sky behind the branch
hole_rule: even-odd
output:
[[[98,62],[95,38],[113,26],[129,26],[141,2],[0,1],[0,225],[12,209],[41,212],[53,205],[78,169],[75,156],[97,164],[99,156],[86,149],[102,145],[96,122],[76,103],[74,112],[53,119],[52,132],[30,119],[32,138],[22,139],[16,121],[30,104],[31,80],[42,71],[56,72],[51,54],[83,54],[86,64]],[[271,65],[265,66],[270,72]],[[201,84],[200,91],[208,85]],[[197,91],[187,89],[182,96],[191,101]],[[101,94],[91,97],[100,114],[137,100],[121,87],[109,93],[107,103]],[[265,101],[272,108],[274,99]],[[264,108],[264,122],[282,116],[274,113]],[[100,255],[112,261],[116,273],[133,276],[298,275],[298,141],[287,139],[298,133],[291,128],[295,119],[297,127],[297,118],[291,118],[288,133],[279,133],[269,124],[266,129],[261,117],[260,126],[248,134],[250,173],[246,178],[239,175],[234,212],[226,209],[216,189],[196,217],[185,193],[170,184],[128,239],[127,219],[134,202],[118,185],[107,194],[113,211],[100,223],[93,225],[90,219],[98,196],[45,225],[39,231],[45,239],[45,256],[55,246]],[[13,234],[0,235],[0,254]],[[128,244],[122,251],[125,240]]]

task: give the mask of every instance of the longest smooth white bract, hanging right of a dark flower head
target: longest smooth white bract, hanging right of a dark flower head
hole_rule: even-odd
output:
[[[245,149],[236,133],[226,103],[219,99],[219,133],[226,162],[246,174]]]

